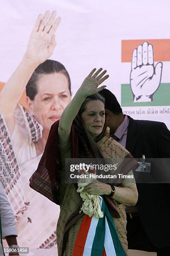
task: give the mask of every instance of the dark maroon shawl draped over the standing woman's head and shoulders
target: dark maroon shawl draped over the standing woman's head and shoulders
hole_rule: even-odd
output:
[[[57,146],[58,125],[59,120],[51,126],[43,156],[38,164],[38,169],[30,177],[30,187],[47,197],[52,202],[60,205],[59,184],[62,166]],[[94,141],[84,127],[81,118],[77,115],[71,126],[71,158],[103,158],[101,150],[96,142],[104,138],[107,133],[108,131],[106,130],[105,123],[102,133]],[[131,159],[131,164],[125,166],[125,164],[122,163],[120,167],[120,169],[124,168],[124,174],[127,174],[131,169],[137,168],[137,162],[133,160],[130,154],[128,157]],[[122,159],[123,158],[124,156],[122,156]],[[77,185],[75,186],[77,187]],[[111,211],[111,215],[114,218],[119,218],[119,212],[114,201],[107,196],[104,196],[104,199]]]

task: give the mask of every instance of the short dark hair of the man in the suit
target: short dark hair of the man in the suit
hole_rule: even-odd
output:
[[[112,111],[115,115],[123,113],[117,98],[112,92],[104,88],[99,94],[105,99],[105,109]]]

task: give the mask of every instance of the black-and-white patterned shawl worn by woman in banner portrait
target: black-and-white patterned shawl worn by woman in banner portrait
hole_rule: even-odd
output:
[[[42,136],[42,128],[35,118],[20,104],[14,113],[15,121],[19,123],[21,131],[25,131],[30,143],[38,141]],[[0,180],[3,183],[8,200],[15,218],[27,209],[28,203],[22,188],[21,174],[15,153],[10,141],[10,134],[3,115],[0,113]]]

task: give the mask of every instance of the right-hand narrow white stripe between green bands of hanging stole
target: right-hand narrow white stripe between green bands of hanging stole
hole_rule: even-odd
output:
[[[106,226],[106,230],[105,230],[104,248],[106,251],[106,255],[107,256],[116,256],[116,252],[115,252],[114,244],[113,244],[113,240],[112,240],[112,235],[110,233],[110,229],[109,229],[109,225],[108,225],[106,217],[105,217],[105,226]]]

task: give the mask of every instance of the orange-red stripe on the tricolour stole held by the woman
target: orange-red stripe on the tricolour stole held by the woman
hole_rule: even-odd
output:
[[[86,243],[86,238],[89,232],[90,224],[92,217],[85,215],[84,219],[81,222],[79,233],[77,234],[76,241],[74,244],[74,250],[72,256],[81,256],[83,255],[84,245]]]

